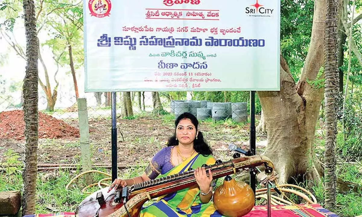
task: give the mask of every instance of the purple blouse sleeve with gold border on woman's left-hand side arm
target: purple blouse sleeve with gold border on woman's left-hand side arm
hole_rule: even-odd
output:
[[[155,179],[162,173],[165,162],[171,159],[170,147],[165,147],[153,156],[151,162],[146,167],[145,173],[150,179]]]

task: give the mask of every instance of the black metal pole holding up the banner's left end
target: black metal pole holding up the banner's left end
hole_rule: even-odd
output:
[[[117,116],[116,116],[116,92],[111,93],[112,99],[112,182],[117,179]]]

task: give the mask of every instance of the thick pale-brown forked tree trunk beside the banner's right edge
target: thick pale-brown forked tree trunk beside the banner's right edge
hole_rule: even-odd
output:
[[[292,178],[320,182],[323,168],[313,142],[324,88],[311,86],[323,64],[326,0],[315,1],[311,42],[296,85],[281,56],[280,91],[257,92],[263,108],[268,146],[265,155],[279,174],[279,183]]]

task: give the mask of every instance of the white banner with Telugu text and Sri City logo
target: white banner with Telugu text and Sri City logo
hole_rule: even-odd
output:
[[[279,90],[280,0],[84,0],[85,91]]]

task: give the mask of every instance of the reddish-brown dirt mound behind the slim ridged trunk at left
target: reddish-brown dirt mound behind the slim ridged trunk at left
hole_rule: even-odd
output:
[[[38,112],[38,138],[79,137],[79,129],[62,120]],[[0,113],[0,138],[24,139],[24,112],[22,110],[3,111]]]

